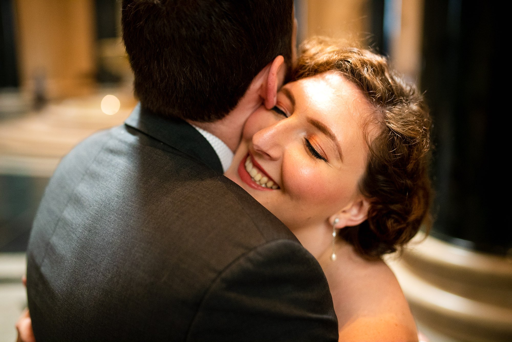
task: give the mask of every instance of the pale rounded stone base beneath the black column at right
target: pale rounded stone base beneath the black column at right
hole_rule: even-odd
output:
[[[418,234],[387,261],[420,326],[459,341],[512,341],[512,257]]]

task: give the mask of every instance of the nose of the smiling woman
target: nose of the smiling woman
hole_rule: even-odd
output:
[[[271,126],[265,127],[252,136],[252,146],[255,152],[270,160],[279,159],[286,148],[285,131],[286,120],[280,120]]]

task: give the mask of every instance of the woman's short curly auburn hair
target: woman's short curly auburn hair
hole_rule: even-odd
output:
[[[336,71],[356,84],[376,108],[380,132],[369,146],[359,191],[370,199],[368,219],[340,229],[339,236],[367,259],[399,250],[423,224],[432,224],[431,119],[423,97],[407,84],[387,59],[369,50],[344,47],[316,37],[301,46],[294,80]]]

